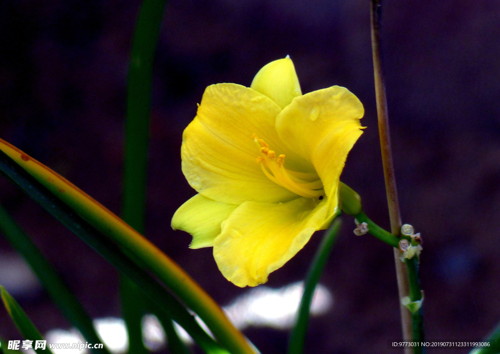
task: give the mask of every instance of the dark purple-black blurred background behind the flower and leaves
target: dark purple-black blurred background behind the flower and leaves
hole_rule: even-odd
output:
[[[139,2],[0,3],[0,137],[120,214],[129,49]],[[421,282],[429,341],[478,341],[500,320],[500,2],[384,1],[382,46],[403,222],[422,233]],[[213,83],[249,86],[264,64],[290,55],[302,92],[347,87],[367,126],[342,180],[388,228],[367,0],[171,0],[154,65],[146,236],[221,305],[245,289],[218,272],[211,249],[173,232],[194,194],[180,171],[182,130]],[[0,200],[93,317],[119,316],[117,272],[5,179]],[[389,246],[342,233],[321,283],[334,304],[310,323],[308,353],[402,352]],[[320,233],[267,285],[303,278]],[[0,236],[1,260],[13,250]],[[7,264],[6,262],[4,262]],[[3,264],[3,263],[1,263]],[[1,266],[0,264],[0,266]],[[0,274],[5,273],[0,269]],[[43,290],[16,298],[42,333],[69,328]],[[19,334],[0,308],[0,336]],[[249,327],[263,353],[283,353],[288,332]],[[466,353],[470,347],[434,348]]]

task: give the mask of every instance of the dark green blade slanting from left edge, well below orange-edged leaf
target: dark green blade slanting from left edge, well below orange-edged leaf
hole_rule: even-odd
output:
[[[92,319],[73,293],[67,288],[52,265],[41,254],[31,239],[0,205],[0,229],[7,240],[19,252],[52,300],[64,314],[64,317],[74,325],[90,343],[99,343],[101,339],[95,332]],[[109,353],[107,349],[92,349],[95,353]]]

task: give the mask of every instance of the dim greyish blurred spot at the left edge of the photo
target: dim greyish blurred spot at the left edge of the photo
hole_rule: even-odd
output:
[[[41,285],[24,258],[15,253],[0,254],[0,284],[14,297],[36,295]]]

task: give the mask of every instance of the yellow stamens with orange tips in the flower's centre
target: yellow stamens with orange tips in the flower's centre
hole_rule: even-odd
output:
[[[316,173],[290,171],[284,168],[284,155],[276,158],[276,153],[269,150],[262,139],[253,134],[255,142],[260,147],[262,156],[257,157],[262,172],[271,181],[288,189],[290,192],[306,198],[320,198],[324,196],[323,184]]]

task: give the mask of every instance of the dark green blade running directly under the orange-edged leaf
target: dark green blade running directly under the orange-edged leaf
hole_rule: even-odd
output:
[[[194,317],[187,312],[178,300],[158,284],[151,275],[132,262],[118,246],[103,237],[94,226],[86,222],[66,204],[53,196],[47,188],[1,151],[0,171],[3,176],[21,188],[24,193],[29,195],[64,226],[96,250],[116,269],[132,279],[156,303],[158,308],[161,308],[168,316],[179,323],[205,352],[218,353],[223,351],[198,325]],[[239,352],[244,351],[234,350],[234,353]]]

